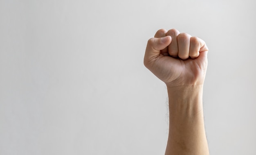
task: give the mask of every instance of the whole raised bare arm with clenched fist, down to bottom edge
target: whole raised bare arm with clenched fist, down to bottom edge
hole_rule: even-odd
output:
[[[202,108],[207,70],[205,42],[176,29],[148,40],[144,65],[167,87],[169,135],[165,155],[209,155]]]

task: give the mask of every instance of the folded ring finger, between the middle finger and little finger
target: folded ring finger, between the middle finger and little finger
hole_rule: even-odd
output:
[[[178,57],[185,60],[189,58],[189,45],[190,45],[190,38],[191,35],[187,33],[180,33],[177,36],[177,43],[178,43]]]

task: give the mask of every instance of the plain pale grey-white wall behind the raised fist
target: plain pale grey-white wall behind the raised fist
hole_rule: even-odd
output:
[[[256,153],[254,0],[0,0],[1,155],[164,155],[160,29],[204,39],[211,155]]]

